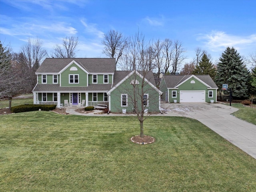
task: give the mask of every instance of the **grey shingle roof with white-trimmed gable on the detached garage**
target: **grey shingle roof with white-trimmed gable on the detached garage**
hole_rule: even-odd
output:
[[[218,88],[209,75],[164,75],[167,88],[176,88],[190,78],[196,78],[208,88]]]

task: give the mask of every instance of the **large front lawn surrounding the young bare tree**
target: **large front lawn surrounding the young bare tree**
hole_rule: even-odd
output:
[[[190,118],[0,116],[2,191],[256,191],[256,160]]]

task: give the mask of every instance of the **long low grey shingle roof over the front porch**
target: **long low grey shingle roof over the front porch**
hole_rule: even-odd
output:
[[[34,91],[40,92],[87,92],[108,91],[111,84],[89,84],[88,87],[60,87],[59,84],[37,84]]]

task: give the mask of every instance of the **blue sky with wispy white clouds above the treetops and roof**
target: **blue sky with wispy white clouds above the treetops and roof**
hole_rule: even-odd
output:
[[[0,40],[14,52],[40,38],[49,52],[66,36],[79,38],[77,57],[102,54],[109,30],[147,40],[180,40],[187,62],[195,49],[218,59],[227,46],[256,52],[256,0],[0,0]]]

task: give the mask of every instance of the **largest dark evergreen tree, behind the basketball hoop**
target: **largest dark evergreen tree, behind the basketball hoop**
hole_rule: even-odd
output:
[[[216,84],[228,84],[232,95],[238,98],[248,96],[249,71],[235,48],[226,48],[217,65]]]

